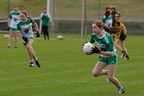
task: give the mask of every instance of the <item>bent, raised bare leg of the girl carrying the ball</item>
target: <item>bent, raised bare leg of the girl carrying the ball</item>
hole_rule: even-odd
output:
[[[92,71],[93,76],[98,77],[100,75],[106,75],[106,70],[103,70],[103,68],[105,68],[106,65],[107,64],[104,62],[98,61]]]

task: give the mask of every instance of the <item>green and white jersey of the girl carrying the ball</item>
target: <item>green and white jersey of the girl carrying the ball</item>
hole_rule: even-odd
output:
[[[114,53],[114,55],[116,55],[116,49],[114,47],[114,42],[112,40],[112,37],[108,34],[105,34],[102,37],[98,37],[96,34],[93,33],[91,35],[91,39],[89,42],[90,43],[96,42],[102,51]],[[108,58],[110,56],[101,54],[101,57]]]

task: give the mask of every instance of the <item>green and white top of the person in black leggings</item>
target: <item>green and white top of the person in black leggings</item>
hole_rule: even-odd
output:
[[[48,13],[41,13],[42,25],[49,26],[50,15]]]

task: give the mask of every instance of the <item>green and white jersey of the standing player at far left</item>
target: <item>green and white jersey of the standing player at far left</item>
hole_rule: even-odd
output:
[[[20,12],[14,12],[12,11],[9,15],[9,19],[11,20],[10,22],[10,27],[11,28],[17,28],[17,22],[18,18],[20,18]]]

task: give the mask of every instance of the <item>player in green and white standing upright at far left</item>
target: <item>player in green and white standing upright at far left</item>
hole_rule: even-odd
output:
[[[10,37],[8,39],[8,48],[11,46],[12,42],[12,36],[14,35],[15,38],[15,48],[18,47],[18,39],[17,39],[17,34],[16,34],[16,24],[20,18],[20,12],[18,11],[18,7],[14,6],[13,11],[9,15],[8,19],[8,29],[10,29]]]

